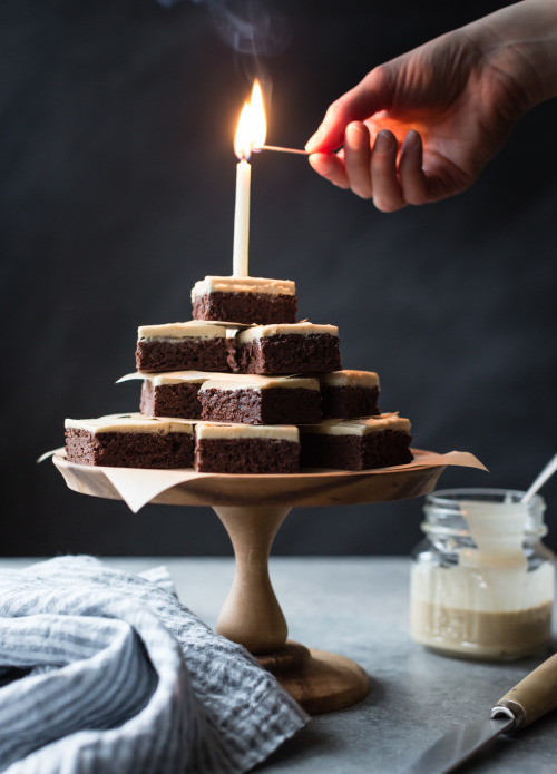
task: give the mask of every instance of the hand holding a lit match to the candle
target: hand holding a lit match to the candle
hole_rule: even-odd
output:
[[[312,167],[383,212],[468,188],[528,108],[519,47],[482,23],[377,67],[333,102],[306,145]]]

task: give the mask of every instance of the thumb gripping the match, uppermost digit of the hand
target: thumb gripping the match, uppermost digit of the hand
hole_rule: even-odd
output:
[[[344,141],[344,129],[351,121],[363,121],[391,104],[387,69],[375,68],[365,78],[336,99],[328,109],[317,131],[307,140],[310,153],[332,153]]]

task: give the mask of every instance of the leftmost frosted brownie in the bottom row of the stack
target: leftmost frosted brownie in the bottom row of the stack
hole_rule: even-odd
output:
[[[194,423],[111,414],[66,420],[70,462],[111,468],[190,468]]]

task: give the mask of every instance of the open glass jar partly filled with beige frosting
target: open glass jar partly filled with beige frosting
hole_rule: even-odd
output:
[[[412,552],[410,634],[439,653],[512,659],[549,645],[554,555],[546,504],[505,489],[426,498],[426,539]]]

